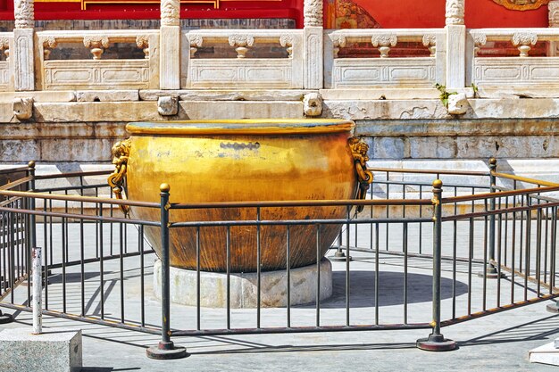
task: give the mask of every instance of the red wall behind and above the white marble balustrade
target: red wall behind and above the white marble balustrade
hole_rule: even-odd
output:
[[[327,0],[324,0],[325,2]],[[441,28],[445,25],[445,0],[353,0],[384,29]],[[491,0],[465,0],[466,26],[547,27],[547,7],[511,11]],[[304,0],[230,1],[220,9],[211,5],[182,5],[182,18],[290,18],[303,27]],[[159,4],[99,4],[80,11],[79,3],[36,3],[37,20],[57,19],[158,19]],[[13,0],[0,0],[0,20],[13,20]]]

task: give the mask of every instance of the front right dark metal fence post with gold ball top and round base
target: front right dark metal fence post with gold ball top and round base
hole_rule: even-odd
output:
[[[448,351],[456,348],[453,340],[447,340],[440,333],[440,260],[441,260],[441,227],[442,227],[442,205],[441,195],[443,193],[443,181],[433,181],[433,320],[431,327],[433,332],[428,338],[417,340],[416,346],[427,351]]]

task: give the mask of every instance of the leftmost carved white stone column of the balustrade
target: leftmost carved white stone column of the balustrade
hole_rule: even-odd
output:
[[[33,56],[33,28],[35,13],[33,0],[14,0],[13,16],[13,84],[16,91],[35,89]]]

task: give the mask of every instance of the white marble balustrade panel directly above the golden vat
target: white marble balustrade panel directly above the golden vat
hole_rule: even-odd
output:
[[[226,44],[232,58],[194,58],[198,48]],[[286,58],[251,58],[250,49],[273,44],[286,49]],[[181,48],[182,88],[280,88],[304,86],[302,29],[213,29],[184,32]]]

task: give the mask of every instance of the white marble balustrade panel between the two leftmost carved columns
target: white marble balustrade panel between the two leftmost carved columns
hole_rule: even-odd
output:
[[[159,31],[95,30],[40,31],[36,33],[35,63],[38,90],[56,89],[147,89],[159,87]],[[133,43],[144,59],[104,59],[113,43]],[[59,44],[88,48],[91,59],[50,60]]]

